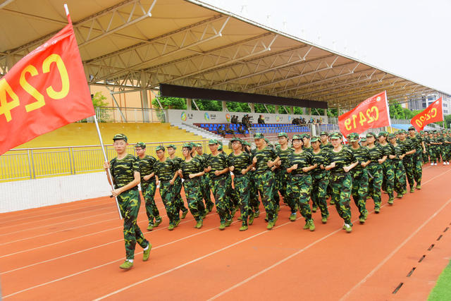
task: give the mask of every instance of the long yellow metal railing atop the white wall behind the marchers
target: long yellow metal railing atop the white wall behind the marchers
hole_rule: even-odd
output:
[[[155,156],[159,145],[175,145],[176,156],[182,156],[182,145],[187,142],[201,143],[204,152],[210,153],[209,140],[171,141],[146,143],[146,154]],[[105,145],[106,156],[116,156],[113,145]],[[135,154],[134,145],[127,147],[128,154]],[[167,154],[167,152],[166,152]],[[103,171],[104,159],[100,145],[70,147],[39,147],[30,149],[11,149],[0,156],[0,182],[69,176],[79,173]]]

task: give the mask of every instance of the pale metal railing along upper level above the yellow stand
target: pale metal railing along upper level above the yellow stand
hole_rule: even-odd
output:
[[[154,123],[166,122],[166,112],[159,109],[118,108],[111,106],[97,106],[94,108],[100,123]],[[78,121],[93,123],[94,118],[88,117]]]

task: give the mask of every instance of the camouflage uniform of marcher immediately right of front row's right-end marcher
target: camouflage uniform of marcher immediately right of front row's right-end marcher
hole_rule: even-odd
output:
[[[366,196],[368,195],[368,171],[366,167],[362,166],[363,162],[370,159],[368,149],[366,147],[359,147],[354,149],[350,147],[354,158],[359,161],[359,163],[352,168],[350,171],[352,175],[352,199],[354,199],[354,204],[359,209],[359,219],[366,219],[368,215],[368,210],[366,209]]]

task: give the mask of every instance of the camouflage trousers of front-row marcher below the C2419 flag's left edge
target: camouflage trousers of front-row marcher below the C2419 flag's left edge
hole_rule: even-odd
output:
[[[352,226],[350,206],[352,176],[350,173],[330,173],[329,183],[332,188],[330,197],[335,202],[338,215]]]

